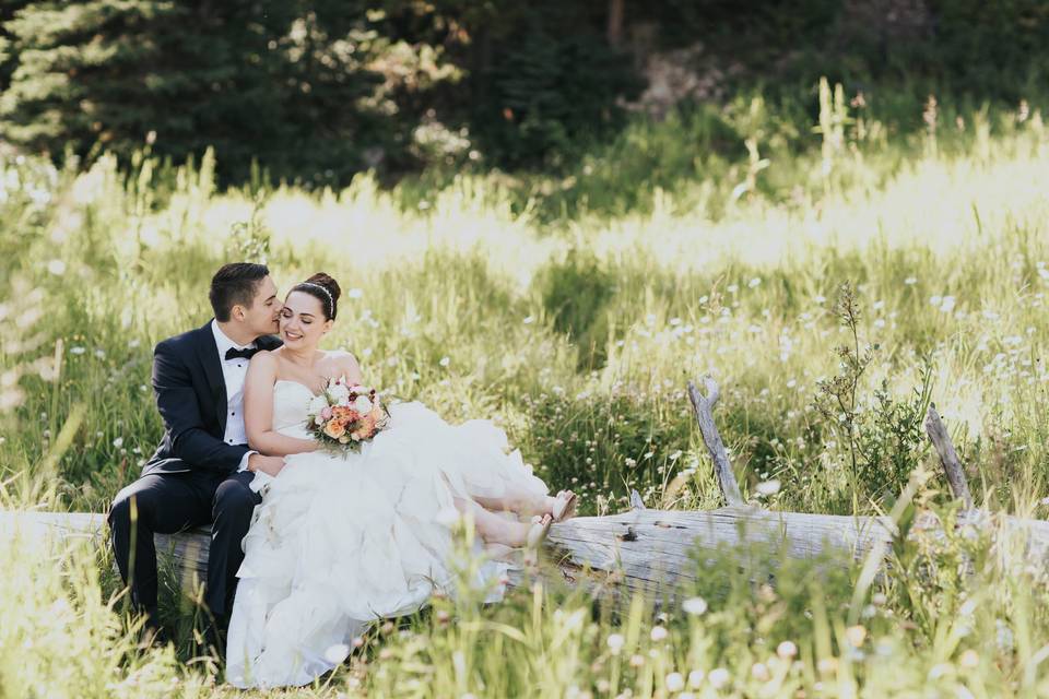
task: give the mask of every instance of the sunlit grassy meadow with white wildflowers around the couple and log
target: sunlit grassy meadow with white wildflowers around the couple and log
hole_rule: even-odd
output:
[[[1040,112],[927,110],[899,133],[827,88],[800,153],[777,147],[761,104],[744,116],[750,158],[672,188],[645,180],[620,208],[588,192],[629,190],[687,125],[638,128],[566,179],[393,189],[363,174],[340,191],[220,191],[210,155],[176,167],[148,150],[123,167],[0,156],[4,508],[105,511],[161,433],[152,346],[203,324],[213,271],[251,259],[284,289],[332,274],[332,347],[400,399],[497,419],[587,514],[626,509],[632,489],[649,507],[720,505],[685,394],[710,374],[743,495],[764,507],[883,513],[910,483],[897,511],[950,520],[921,427],[932,401],[980,506],[1046,517]],[[570,215],[551,216],[543,197],[569,191]],[[464,589],[376,628],[299,694],[1049,694],[1045,571],[985,537],[901,540],[874,584],[858,567],[729,554],[658,615],[542,585],[482,607]],[[224,691],[172,580],[177,647],[143,650],[104,546],[5,538],[0,561],[0,695]]]

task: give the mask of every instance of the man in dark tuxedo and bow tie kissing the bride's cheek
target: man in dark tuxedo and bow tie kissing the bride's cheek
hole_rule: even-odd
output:
[[[154,635],[160,626],[153,534],[212,523],[204,602],[213,630],[225,629],[244,559],[240,541],[260,500],[248,484],[255,471],[276,475],[284,466],[282,458],[250,451],[244,427],[248,359],[281,344],[272,336],[281,301],[269,274],[263,264],[224,265],[211,280],[214,319],[154,351],[153,390],[164,438],[109,511],[117,567]]]

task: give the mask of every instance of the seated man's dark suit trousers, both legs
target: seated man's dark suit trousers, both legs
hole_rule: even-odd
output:
[[[211,522],[204,602],[220,625],[228,623],[237,569],[244,560],[240,544],[251,524],[251,512],[262,500],[248,487],[254,476],[248,471],[216,473],[203,469],[150,473],[114,498],[108,519],[117,568],[125,584],[131,585],[132,602],[154,621],[153,534],[174,534]]]

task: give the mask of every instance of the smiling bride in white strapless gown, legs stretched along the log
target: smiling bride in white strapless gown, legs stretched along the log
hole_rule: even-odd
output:
[[[310,400],[330,377],[363,382],[352,355],[318,350],[339,296],[323,273],[294,286],[280,319],[284,345],[259,352],[248,369],[248,441],[285,465],[251,483],[263,498],[244,538],[226,642],[226,678],[237,687],[308,684],[340,664],[368,624],[411,614],[437,590],[453,593],[460,516],[490,547],[516,548],[538,546],[552,521],[575,512],[576,496],[547,496],[491,422],[452,426],[417,402],[389,406],[389,427],[360,452],[319,451],[305,427]],[[506,569],[481,565],[475,582],[490,585],[487,601],[502,597]]]

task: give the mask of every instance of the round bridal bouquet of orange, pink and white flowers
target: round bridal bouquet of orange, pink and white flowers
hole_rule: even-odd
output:
[[[375,389],[328,379],[309,402],[308,429],[322,445],[357,451],[361,443],[389,425],[390,414]]]

